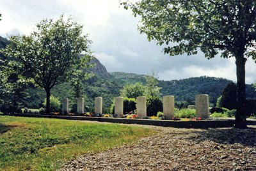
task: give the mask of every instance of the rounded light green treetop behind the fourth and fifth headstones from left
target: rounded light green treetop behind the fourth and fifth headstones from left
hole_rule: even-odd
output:
[[[140,82],[135,84],[127,84],[120,90],[120,96],[127,98],[137,98],[145,94],[146,87]]]

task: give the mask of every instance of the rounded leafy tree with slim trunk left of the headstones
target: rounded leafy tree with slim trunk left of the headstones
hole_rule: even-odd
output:
[[[11,36],[10,45],[3,50],[4,56],[18,63],[22,75],[45,90],[47,113],[52,87],[70,80],[90,61],[91,41],[82,32],[83,26],[61,15],[55,21],[42,20],[29,36]]]

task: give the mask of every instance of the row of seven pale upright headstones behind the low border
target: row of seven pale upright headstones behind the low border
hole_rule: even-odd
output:
[[[147,98],[140,96],[137,99],[137,115],[138,117],[147,116]],[[195,96],[196,118],[209,118],[209,96],[207,94],[198,94]],[[102,97],[95,98],[95,114],[102,114]],[[65,98],[62,103],[63,114],[68,114],[68,99]],[[84,114],[84,98],[77,99],[77,113]],[[115,98],[115,115],[122,117],[124,114],[124,100],[122,97]],[[163,114],[166,119],[174,118],[174,96],[164,96],[163,98]]]

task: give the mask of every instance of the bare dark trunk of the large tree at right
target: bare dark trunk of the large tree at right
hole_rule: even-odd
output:
[[[243,54],[236,56],[237,75],[237,112],[235,128],[247,128],[246,124],[246,94],[245,94],[245,63]]]

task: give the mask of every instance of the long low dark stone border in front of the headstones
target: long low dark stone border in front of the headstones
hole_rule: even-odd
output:
[[[232,119],[206,120],[206,121],[166,121],[166,120],[150,120],[150,119],[125,119],[113,117],[86,117],[77,115],[38,115],[38,114],[13,114],[13,116],[21,117],[44,117],[54,119],[68,119],[80,121],[98,121],[106,123],[122,123],[122,124],[147,124],[154,126],[170,126],[174,128],[226,128],[234,126]],[[256,121],[247,121],[248,125],[256,125]]]

